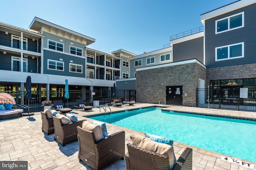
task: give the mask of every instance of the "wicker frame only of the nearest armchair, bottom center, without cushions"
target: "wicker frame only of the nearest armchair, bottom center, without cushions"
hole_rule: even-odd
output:
[[[170,170],[169,158],[165,155],[150,152],[127,144],[128,153],[124,155],[126,170]],[[186,148],[172,170],[192,170],[192,149]]]

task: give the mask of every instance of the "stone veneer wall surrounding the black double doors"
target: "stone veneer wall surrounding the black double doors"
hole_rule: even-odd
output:
[[[198,78],[206,80],[206,68],[196,62],[137,71],[136,102],[158,104],[166,86],[182,86],[182,105],[196,106]]]

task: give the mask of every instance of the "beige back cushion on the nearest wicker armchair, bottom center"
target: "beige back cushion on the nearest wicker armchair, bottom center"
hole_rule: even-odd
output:
[[[137,147],[168,156],[169,166],[170,169],[172,169],[172,167],[174,166],[174,150],[172,146],[167,145],[165,143],[158,143],[152,141],[151,139],[148,139],[136,133],[130,135],[130,138],[132,140],[132,144]]]

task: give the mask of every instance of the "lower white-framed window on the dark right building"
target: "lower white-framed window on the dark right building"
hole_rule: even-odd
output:
[[[215,61],[244,57],[244,42],[215,48]]]

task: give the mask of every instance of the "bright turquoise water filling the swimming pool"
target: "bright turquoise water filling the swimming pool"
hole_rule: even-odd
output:
[[[256,122],[146,108],[90,117],[256,162]]]

